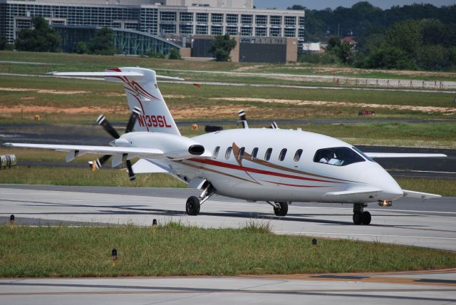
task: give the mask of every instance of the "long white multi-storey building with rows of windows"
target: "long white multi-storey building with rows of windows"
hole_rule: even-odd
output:
[[[31,19],[51,25],[109,26],[153,35],[298,38],[304,11],[254,9],[253,0],[0,0],[0,35],[13,42]]]

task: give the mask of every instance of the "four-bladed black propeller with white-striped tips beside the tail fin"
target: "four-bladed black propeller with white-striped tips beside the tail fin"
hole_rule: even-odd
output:
[[[141,110],[139,107],[133,108],[133,111],[130,115],[130,119],[128,120],[127,126],[125,127],[125,133],[130,133],[133,128],[135,127],[136,120],[138,120],[138,117],[141,113]],[[105,117],[105,115],[100,115],[97,118],[97,123],[98,125],[101,125],[104,130],[106,130],[107,133],[109,133],[113,138],[118,139],[120,138],[119,133],[115,128],[113,128],[113,125],[108,121],[108,119]],[[123,160],[125,160],[125,164],[127,165],[128,169],[128,176],[130,177],[130,181],[135,181],[135,173],[133,172],[133,167],[131,165],[131,161],[127,160],[128,154],[123,154]],[[98,170],[100,169],[106,161],[109,160],[111,156],[110,155],[103,155],[102,157],[99,157],[97,160],[89,161],[88,164],[92,168],[92,170]]]

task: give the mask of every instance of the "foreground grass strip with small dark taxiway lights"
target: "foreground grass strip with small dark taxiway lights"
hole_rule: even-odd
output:
[[[19,222],[19,221],[18,221]],[[186,276],[386,272],[456,267],[456,254],[276,235],[267,226],[0,227],[0,276]],[[118,250],[115,267],[111,249]]]

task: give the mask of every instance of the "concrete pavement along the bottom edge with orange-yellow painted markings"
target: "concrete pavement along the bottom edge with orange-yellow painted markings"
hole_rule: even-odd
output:
[[[456,304],[456,270],[389,274],[0,279],[1,304]]]

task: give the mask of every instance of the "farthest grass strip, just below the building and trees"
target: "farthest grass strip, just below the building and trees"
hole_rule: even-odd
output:
[[[48,63],[49,71],[86,71],[88,67],[97,71],[119,66],[141,66],[154,69],[205,70],[205,71],[237,71],[248,73],[285,73],[309,75],[336,75],[359,78],[400,78],[425,79],[430,81],[455,81],[456,73],[439,73],[427,71],[379,71],[346,68],[346,66],[317,66],[309,63],[217,63],[214,61],[170,61],[156,58],[140,58],[125,56],[92,56],[67,53],[31,53],[0,51],[2,61],[26,61]],[[11,66],[12,73],[44,73],[43,64],[26,65],[5,63]],[[7,71],[4,68],[4,71]],[[163,71],[163,73],[167,73]]]

